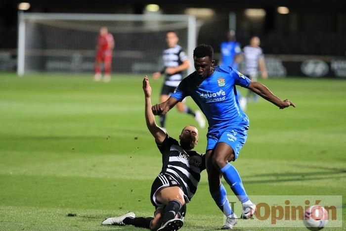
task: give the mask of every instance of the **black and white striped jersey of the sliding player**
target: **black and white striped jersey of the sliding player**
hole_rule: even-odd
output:
[[[201,172],[206,169],[205,155],[182,149],[178,141],[169,136],[157,146],[162,153],[161,173],[170,175],[181,185],[189,202],[196,193]]]

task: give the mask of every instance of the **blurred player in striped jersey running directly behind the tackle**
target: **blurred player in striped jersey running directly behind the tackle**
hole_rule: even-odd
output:
[[[175,31],[168,31],[166,33],[168,48],[163,51],[162,56],[164,69],[152,75],[153,79],[157,80],[161,75],[165,74],[165,81],[161,89],[160,103],[165,102],[170,97],[182,80],[182,72],[190,67],[190,61],[182,47],[178,45],[178,41],[179,38]],[[206,121],[200,111],[192,111],[184,102],[179,102],[176,107],[179,112],[187,113],[195,117],[195,120],[201,128],[206,126]],[[166,131],[165,122],[166,115],[161,115],[160,126]]]

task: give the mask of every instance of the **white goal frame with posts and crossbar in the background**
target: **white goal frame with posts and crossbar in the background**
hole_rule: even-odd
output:
[[[49,19],[49,20],[95,20],[95,21],[172,21],[187,22],[187,55],[193,63],[193,49],[197,41],[197,23],[193,15],[185,14],[81,14],[81,13],[18,13],[18,50],[17,50],[17,75],[25,73],[25,21],[27,19]],[[189,73],[194,71],[190,65]]]

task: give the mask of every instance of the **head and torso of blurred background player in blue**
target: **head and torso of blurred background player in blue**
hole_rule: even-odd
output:
[[[230,66],[233,69],[238,69],[238,64],[241,61],[240,44],[235,41],[235,31],[227,32],[227,42],[221,43],[221,62],[220,64]]]

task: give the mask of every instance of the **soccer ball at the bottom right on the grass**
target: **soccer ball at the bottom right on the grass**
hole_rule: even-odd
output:
[[[304,225],[307,229],[322,230],[328,224],[328,211],[319,205],[310,206],[305,210]]]

